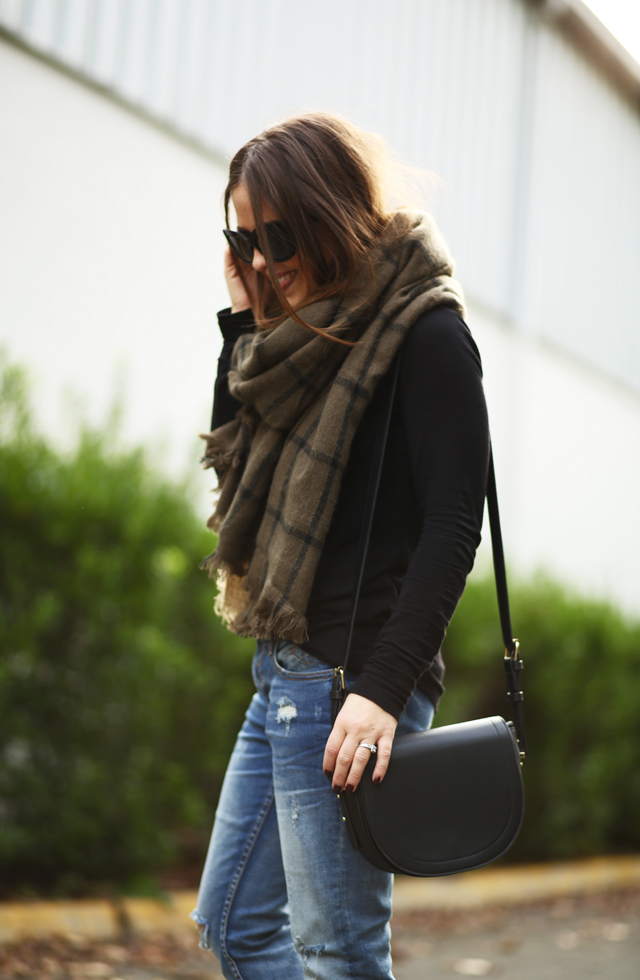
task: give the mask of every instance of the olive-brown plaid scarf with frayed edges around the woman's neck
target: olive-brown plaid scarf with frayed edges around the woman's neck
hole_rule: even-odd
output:
[[[243,405],[203,438],[221,494],[208,526],[217,611],[242,636],[307,639],[305,610],[358,423],[416,319],[464,313],[433,220],[394,215],[348,294],[304,308],[307,323],[357,341],[335,344],[287,319],[238,340],[229,390]]]

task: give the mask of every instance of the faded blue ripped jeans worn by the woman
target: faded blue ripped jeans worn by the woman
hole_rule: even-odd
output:
[[[332,677],[291,643],[258,642],[257,691],[192,913],[227,978],[393,980],[392,875],[352,849],[322,771]],[[397,733],[428,728],[432,718],[431,701],[416,690]]]

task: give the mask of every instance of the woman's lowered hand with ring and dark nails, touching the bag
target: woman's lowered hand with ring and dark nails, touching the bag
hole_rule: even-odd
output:
[[[327,775],[333,773],[334,792],[340,793],[343,787],[353,792],[360,782],[371,755],[360,742],[378,746],[373,781],[381,781],[389,765],[397,724],[393,715],[375,702],[359,694],[347,695],[327,741],[322,763]]]

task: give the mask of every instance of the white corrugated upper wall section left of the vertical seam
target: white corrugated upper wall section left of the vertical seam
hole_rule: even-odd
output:
[[[520,0],[25,0],[23,14],[29,43],[226,154],[301,108],[381,132],[442,178],[458,273],[507,311]]]

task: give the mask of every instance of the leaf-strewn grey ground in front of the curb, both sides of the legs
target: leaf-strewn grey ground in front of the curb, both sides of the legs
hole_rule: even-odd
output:
[[[640,978],[640,891],[393,920],[397,980]],[[80,938],[0,946],[2,980],[213,980],[197,935],[121,944]],[[283,978],[287,980],[287,978]]]

